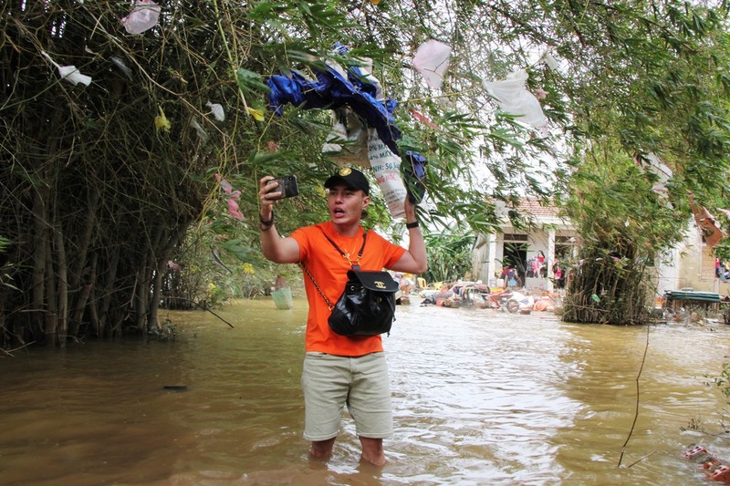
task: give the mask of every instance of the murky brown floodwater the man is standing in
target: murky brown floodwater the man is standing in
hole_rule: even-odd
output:
[[[384,337],[395,434],[359,464],[345,415],[309,460],[306,303],[162,313],[174,342],[88,342],[0,360],[4,485],[706,484],[730,460],[718,377],[730,328],[586,326],[549,314],[401,306]],[[185,387],[183,390],[164,387]],[[624,447],[625,445],[625,447]]]

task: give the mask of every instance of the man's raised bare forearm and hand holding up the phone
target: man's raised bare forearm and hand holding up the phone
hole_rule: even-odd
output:
[[[261,218],[261,249],[266,259],[276,264],[297,264],[299,262],[299,244],[293,238],[281,238],[274,225],[274,204],[280,195],[276,190],[274,178],[267,175],[259,181],[258,200]],[[270,183],[272,182],[272,183]]]

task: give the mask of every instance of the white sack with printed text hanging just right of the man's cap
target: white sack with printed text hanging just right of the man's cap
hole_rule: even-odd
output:
[[[368,157],[388,211],[393,218],[402,218],[406,190],[401,179],[401,158],[382,142],[376,129],[368,129]]]

